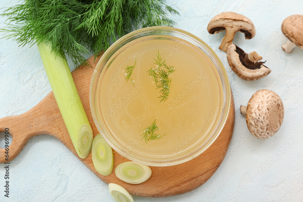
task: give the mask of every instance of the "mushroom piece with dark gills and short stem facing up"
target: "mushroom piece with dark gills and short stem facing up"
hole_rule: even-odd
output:
[[[256,51],[249,54],[245,53],[235,44],[231,44],[227,50],[227,60],[231,69],[240,78],[254,81],[267,76],[271,70],[259,62],[262,57]]]

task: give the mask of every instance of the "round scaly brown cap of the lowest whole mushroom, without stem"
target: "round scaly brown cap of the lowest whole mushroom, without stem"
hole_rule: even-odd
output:
[[[274,91],[257,91],[248,101],[246,124],[250,133],[259,139],[273,136],[281,127],[283,118],[283,102]]]

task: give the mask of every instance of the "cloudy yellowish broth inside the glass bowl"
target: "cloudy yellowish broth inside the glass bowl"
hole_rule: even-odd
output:
[[[173,66],[168,99],[160,102],[161,89],[156,89],[148,75],[157,55]],[[136,62],[136,64],[135,64]],[[131,80],[125,80],[125,68],[135,64]],[[163,68],[163,67],[162,67]],[[221,80],[206,54],[186,42],[167,39],[144,40],[127,47],[106,69],[98,114],[108,130],[130,150],[147,155],[171,155],[207,141],[218,123]],[[161,139],[145,143],[143,131],[156,120]],[[141,140],[142,139],[142,140]]]

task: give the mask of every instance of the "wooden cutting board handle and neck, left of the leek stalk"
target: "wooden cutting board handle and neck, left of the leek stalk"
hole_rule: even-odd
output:
[[[66,128],[58,105],[55,101],[54,94],[50,92],[48,96],[42,99],[35,107],[17,116],[9,116],[0,119],[0,132],[8,128],[12,135],[12,143],[8,147],[8,161],[5,160],[5,148],[0,148],[0,163],[12,161],[20,154],[26,143],[32,137],[41,134],[58,136],[58,127]],[[52,114],[50,116],[49,114]],[[53,125],[56,123],[56,126]],[[58,124],[58,125],[57,125]],[[56,131],[57,130],[57,134]],[[61,129],[62,131],[63,129]]]

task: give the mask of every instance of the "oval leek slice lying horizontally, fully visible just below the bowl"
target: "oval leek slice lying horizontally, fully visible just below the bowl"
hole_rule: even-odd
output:
[[[130,184],[140,184],[151,176],[151,169],[147,165],[133,161],[119,164],[115,169],[116,176]]]

